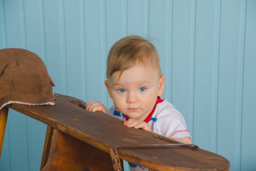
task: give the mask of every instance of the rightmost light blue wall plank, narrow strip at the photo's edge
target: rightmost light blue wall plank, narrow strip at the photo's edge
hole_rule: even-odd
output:
[[[241,170],[255,170],[256,142],[256,1],[247,1],[245,61],[243,78],[243,116]]]

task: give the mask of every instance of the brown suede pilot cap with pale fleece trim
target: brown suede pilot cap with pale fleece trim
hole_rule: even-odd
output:
[[[11,103],[54,105],[52,86],[38,55],[22,48],[0,50],[0,109]]]

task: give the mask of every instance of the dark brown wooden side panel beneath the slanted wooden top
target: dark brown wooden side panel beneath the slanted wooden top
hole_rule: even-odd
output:
[[[43,170],[113,170],[111,157],[66,133],[53,129],[50,151]]]

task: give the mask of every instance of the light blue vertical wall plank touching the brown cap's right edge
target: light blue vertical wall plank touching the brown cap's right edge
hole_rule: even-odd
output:
[[[43,11],[47,70],[56,85],[54,92],[67,94],[63,1],[43,1]]]

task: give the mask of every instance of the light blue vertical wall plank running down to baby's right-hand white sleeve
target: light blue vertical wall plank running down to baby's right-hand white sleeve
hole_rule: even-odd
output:
[[[172,103],[193,136],[194,1],[173,1]]]

